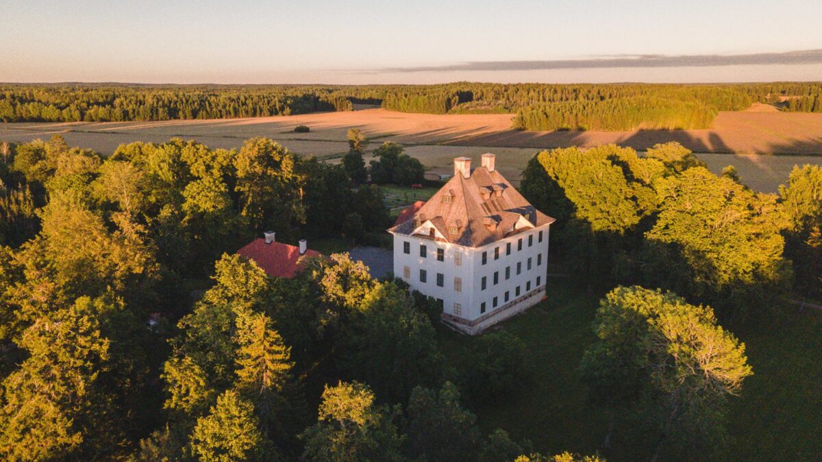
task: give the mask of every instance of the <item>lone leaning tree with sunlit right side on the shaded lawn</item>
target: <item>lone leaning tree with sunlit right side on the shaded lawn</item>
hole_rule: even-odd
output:
[[[728,396],[752,374],[745,345],[716,323],[710,307],[673,293],[617,287],[600,303],[598,337],[580,371],[593,398],[640,406],[658,422],[659,446],[718,448]]]

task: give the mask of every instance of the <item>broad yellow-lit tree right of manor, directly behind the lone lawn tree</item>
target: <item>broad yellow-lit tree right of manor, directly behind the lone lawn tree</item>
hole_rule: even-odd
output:
[[[658,219],[644,234],[644,280],[741,316],[778,305],[791,272],[776,196],[701,167],[661,181]]]

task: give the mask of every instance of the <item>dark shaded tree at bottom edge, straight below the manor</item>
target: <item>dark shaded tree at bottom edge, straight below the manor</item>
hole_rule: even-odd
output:
[[[417,386],[411,392],[404,432],[408,453],[418,460],[472,460],[480,441],[476,416],[459,404],[450,381],[439,393]]]

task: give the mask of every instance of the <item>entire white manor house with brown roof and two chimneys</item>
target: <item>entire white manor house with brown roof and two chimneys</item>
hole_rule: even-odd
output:
[[[394,274],[436,298],[443,320],[478,334],[545,295],[550,216],[496,171],[495,156],[454,177],[394,228]]]

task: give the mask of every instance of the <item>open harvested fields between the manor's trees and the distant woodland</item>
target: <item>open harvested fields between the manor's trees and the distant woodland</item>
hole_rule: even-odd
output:
[[[516,132],[509,129],[510,114],[435,115],[396,113],[384,109],[311,113],[287,117],[163,122],[21,122],[0,124],[0,140],[47,139],[59,133],[71,146],[84,146],[103,155],[122,143],[163,142],[173,136],[195,139],[208,146],[238,148],[252,136],[268,136],[301,154],[333,158],[348,150],[346,132],[356,127],[372,139],[371,149],[383,141],[406,146],[409,155],[434,173],[451,173],[459,155],[500,156],[499,169],[515,184],[531,155],[560,146],[597,146],[616,143],[637,150],[658,142],[679,141],[700,154],[719,173],[733,164],[743,182],[759,191],[775,192],[794,164],[822,164],[822,113],[783,113],[772,106],[755,105],[748,111],[720,113],[711,130],[641,132]],[[307,125],[312,132],[294,133]],[[745,153],[728,155],[727,153]],[[750,155],[750,153],[792,155]],[[721,154],[726,153],[726,154]],[[820,155],[820,157],[814,157]]]

